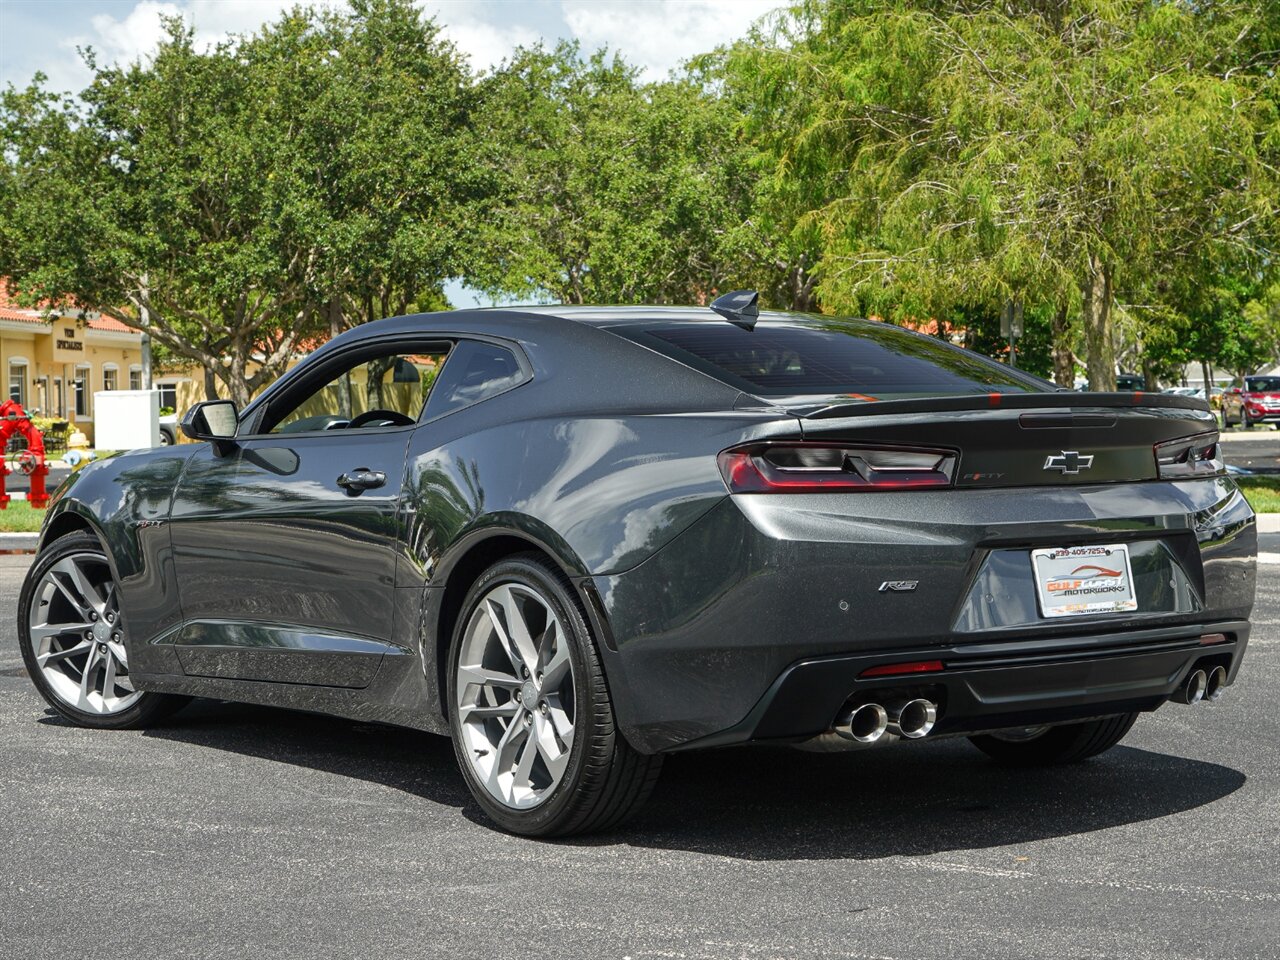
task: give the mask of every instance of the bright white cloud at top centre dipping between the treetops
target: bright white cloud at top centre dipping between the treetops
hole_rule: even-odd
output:
[[[667,76],[695,54],[746,33],[781,0],[563,0],[564,22],[585,50],[608,46],[644,79]]]

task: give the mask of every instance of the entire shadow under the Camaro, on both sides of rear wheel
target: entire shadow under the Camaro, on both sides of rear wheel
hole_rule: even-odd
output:
[[[211,701],[146,735],[380,783],[485,822],[444,737]],[[1046,769],[998,767],[964,740],[849,754],[739,748],[668,758],[636,820],[568,842],[748,860],[928,855],[1152,820],[1244,782],[1230,767],[1125,746]]]

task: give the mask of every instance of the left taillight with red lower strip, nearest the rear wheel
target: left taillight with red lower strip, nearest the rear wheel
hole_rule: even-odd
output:
[[[950,486],[956,454],[908,447],[762,443],[719,454],[731,493],[914,490]]]

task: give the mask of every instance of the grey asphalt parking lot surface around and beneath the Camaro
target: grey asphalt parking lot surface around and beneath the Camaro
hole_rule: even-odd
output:
[[[1280,564],[1224,700],[1089,763],[687,754],[623,832],[534,842],[428,735],[214,703],[61,723],[17,652],[28,562],[0,557],[0,957],[1280,955]]]

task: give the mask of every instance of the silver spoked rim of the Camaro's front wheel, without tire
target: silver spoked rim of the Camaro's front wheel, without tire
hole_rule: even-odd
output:
[[[27,627],[36,667],[68,707],[113,716],[142,696],[129,680],[119,591],[105,557],[72,553],[49,567]]]

